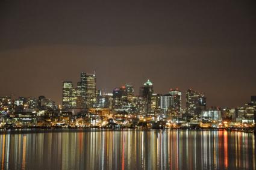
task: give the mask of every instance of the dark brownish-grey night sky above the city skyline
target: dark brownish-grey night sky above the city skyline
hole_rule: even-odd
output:
[[[201,91],[208,106],[256,95],[255,1],[0,2],[0,96],[61,103],[63,80],[97,87],[150,79],[156,93]],[[185,93],[183,93],[183,99]],[[184,102],[183,102],[184,103]]]

